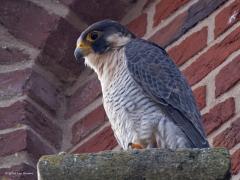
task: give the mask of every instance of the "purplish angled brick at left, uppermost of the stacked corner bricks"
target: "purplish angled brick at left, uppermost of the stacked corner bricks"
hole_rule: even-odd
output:
[[[2,99],[27,94],[54,113],[59,106],[56,98],[57,91],[56,87],[31,69],[0,74],[0,97]]]

